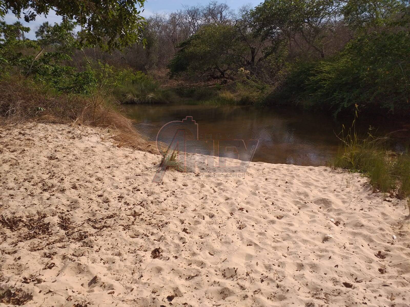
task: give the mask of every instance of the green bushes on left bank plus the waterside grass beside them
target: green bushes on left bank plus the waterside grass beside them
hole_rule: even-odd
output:
[[[80,47],[72,31],[74,23],[65,21],[50,25],[43,23],[36,31],[36,41],[21,39],[30,29],[21,25],[1,24],[0,41],[2,72],[20,72],[32,77],[56,93],[110,96],[121,102],[153,102],[169,99],[170,95],[142,72],[115,68],[103,61],[89,61],[85,70],[68,65],[73,50]]]

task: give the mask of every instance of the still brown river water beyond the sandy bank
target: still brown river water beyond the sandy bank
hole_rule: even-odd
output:
[[[251,106],[140,104],[126,108],[136,120],[137,129],[150,140],[155,140],[164,124],[192,116],[198,124],[198,138],[240,138],[245,143],[258,139],[253,162],[312,166],[325,165],[331,160],[340,144],[336,134],[341,131],[342,124],[350,126],[352,122],[351,118],[335,121],[318,113]],[[391,120],[385,122],[375,118],[370,122],[359,120],[358,129],[366,131],[369,124],[380,134],[403,129],[403,123],[392,125]],[[396,133],[393,137],[393,149],[403,150],[408,134]]]

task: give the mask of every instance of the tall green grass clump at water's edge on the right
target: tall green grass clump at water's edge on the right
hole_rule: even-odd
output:
[[[376,137],[372,134],[371,128],[366,135],[360,137],[355,129],[357,117],[356,105],[355,118],[351,127],[346,130],[343,126],[338,135],[342,145],[332,163],[333,167],[362,173],[369,178],[373,192],[389,193],[399,199],[407,199],[410,205],[408,151],[398,153],[390,151],[386,144],[389,137]]]

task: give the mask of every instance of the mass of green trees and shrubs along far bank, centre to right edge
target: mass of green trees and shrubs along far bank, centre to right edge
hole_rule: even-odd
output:
[[[409,112],[408,2],[267,0],[239,18],[219,8],[217,23],[180,43],[171,77],[235,81],[251,103]]]

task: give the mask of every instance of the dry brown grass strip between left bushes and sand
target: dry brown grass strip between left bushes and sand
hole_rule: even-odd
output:
[[[0,120],[3,124],[27,121],[86,125],[107,129],[118,147],[157,153],[134,128],[130,118],[121,114],[121,105],[104,97],[67,95],[42,88],[30,79],[0,81]]]

